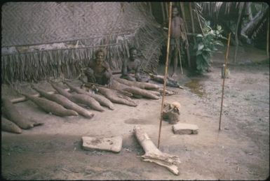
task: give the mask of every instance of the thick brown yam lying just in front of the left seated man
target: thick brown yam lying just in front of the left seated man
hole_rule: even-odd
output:
[[[134,101],[132,101],[128,96],[119,94],[119,92],[116,92],[113,89],[107,89],[105,87],[98,87],[98,92],[102,94],[103,96],[105,96],[110,101],[112,101],[113,103],[121,103],[127,106],[133,106],[133,107],[137,106],[137,104]]]

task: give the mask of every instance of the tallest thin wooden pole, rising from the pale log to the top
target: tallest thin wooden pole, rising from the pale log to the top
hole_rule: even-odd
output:
[[[162,112],[163,112],[163,106],[164,106],[164,96],[165,96],[166,81],[167,81],[167,74],[168,74],[168,60],[169,60],[169,52],[170,52],[170,23],[171,23],[171,21],[172,21],[172,2],[170,2],[170,7],[169,7],[169,30],[168,30],[165,75],[164,75],[164,83],[163,83],[163,94],[162,94],[162,101],[161,101],[161,120],[159,122],[159,130],[158,130],[158,148],[159,148],[159,142],[160,142],[160,138],[161,138],[161,125],[162,125],[162,115],[163,115]]]

